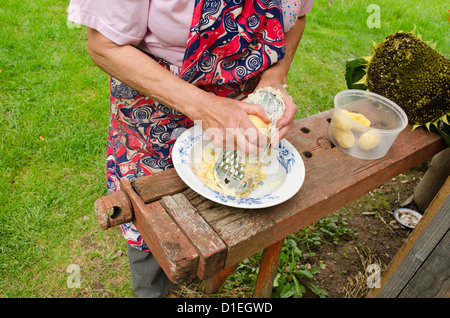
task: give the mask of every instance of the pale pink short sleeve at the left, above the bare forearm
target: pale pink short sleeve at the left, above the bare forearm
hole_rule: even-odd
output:
[[[119,45],[138,45],[147,32],[149,5],[149,0],[71,0],[68,19]]]

